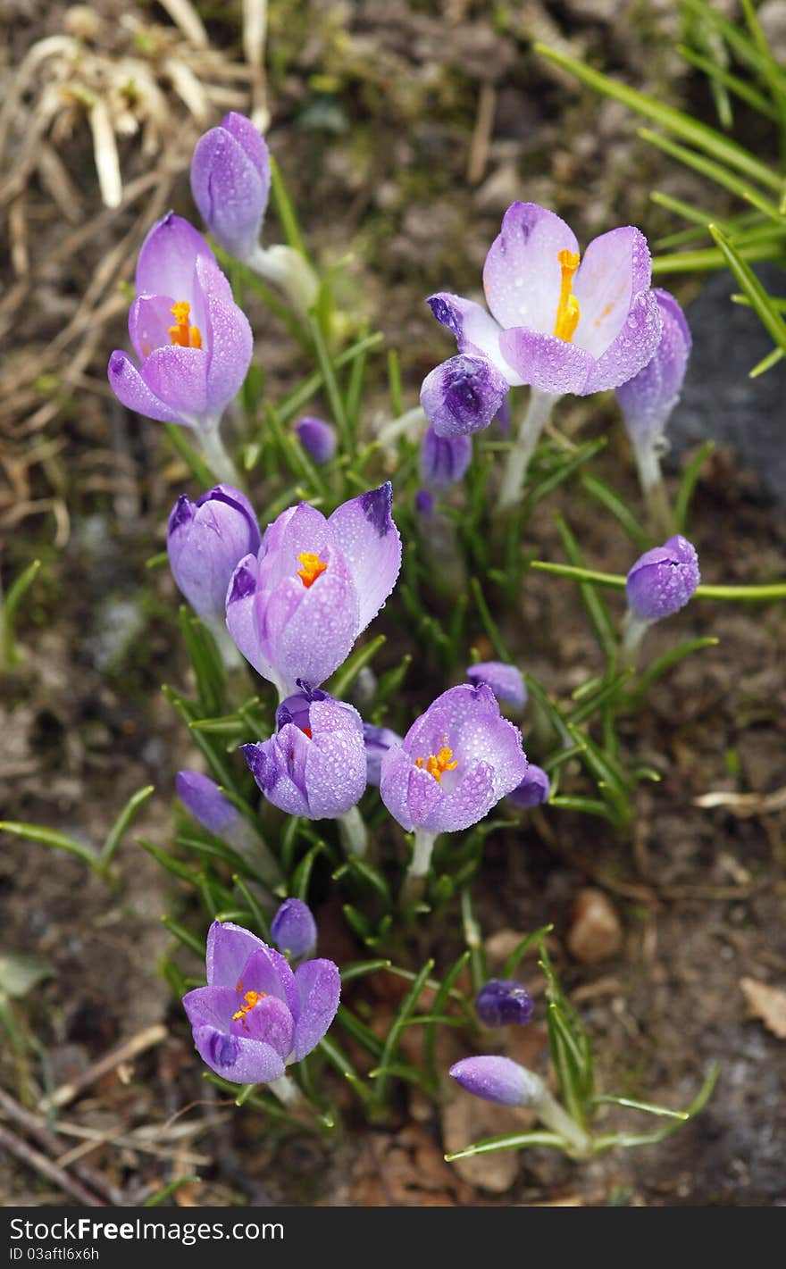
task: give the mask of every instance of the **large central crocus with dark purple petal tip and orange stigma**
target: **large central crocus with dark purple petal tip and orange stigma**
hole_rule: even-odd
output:
[[[361,494],[328,519],[307,503],[282,511],[235,570],[226,623],[235,643],[282,697],[317,687],[344,661],[399,576],[392,487]]]

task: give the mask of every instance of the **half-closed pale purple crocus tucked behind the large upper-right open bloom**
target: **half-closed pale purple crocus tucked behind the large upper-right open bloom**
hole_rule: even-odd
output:
[[[674,296],[655,288],[663,319],[660,343],[651,362],[617,388],[625,426],[635,445],[658,443],[679,401],[691,353],[691,331]]]

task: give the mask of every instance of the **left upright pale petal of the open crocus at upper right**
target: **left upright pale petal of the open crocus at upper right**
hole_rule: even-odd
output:
[[[578,250],[573,230],[554,212],[537,203],[513,203],[483,270],[486,302],[500,326],[554,335],[563,278],[559,254]],[[504,355],[518,371],[517,362]]]

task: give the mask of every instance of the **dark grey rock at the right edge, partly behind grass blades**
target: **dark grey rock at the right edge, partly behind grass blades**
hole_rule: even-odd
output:
[[[756,273],[769,294],[786,294],[782,269],[761,265]],[[729,273],[714,274],[687,308],[693,350],[669,424],[670,456],[711,438],[757,473],[764,496],[786,503],[786,360],[748,378],[772,340],[752,308],[731,303],[738,289]]]

